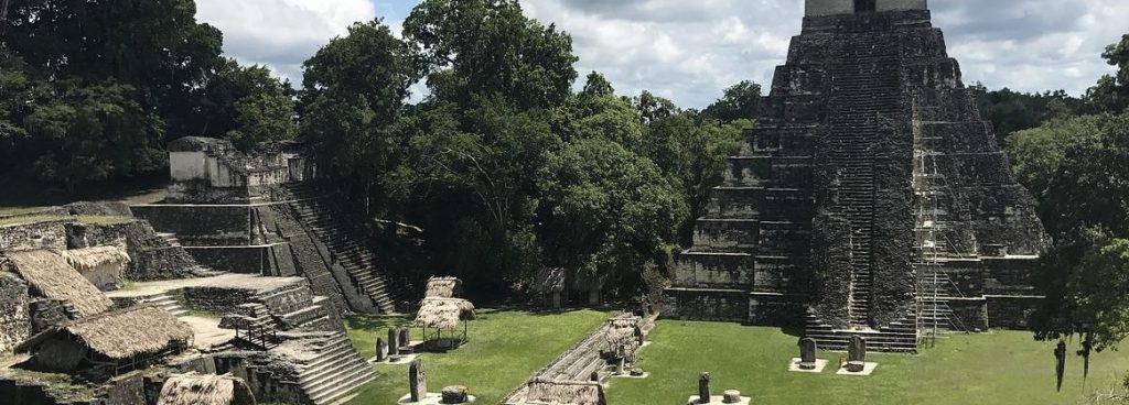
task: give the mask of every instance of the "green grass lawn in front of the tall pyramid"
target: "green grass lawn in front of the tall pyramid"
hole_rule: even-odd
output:
[[[872,377],[835,376],[844,353],[821,352],[823,373],[788,372],[798,356],[796,336],[779,328],[663,320],[641,352],[648,379],[613,379],[609,404],[681,405],[697,393],[698,372],[709,371],[717,395],[739,389],[758,405],[799,404],[1082,404],[1129,371],[1129,353],[1093,356],[1083,387],[1083,362],[1071,356],[1062,393],[1054,391],[1054,344],[1027,332],[951,335],[918,355],[870,354]]]

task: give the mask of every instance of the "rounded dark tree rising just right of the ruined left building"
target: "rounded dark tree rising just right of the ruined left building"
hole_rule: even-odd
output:
[[[400,153],[388,129],[415,77],[408,46],[379,19],[357,23],[304,67],[301,137],[324,167],[359,184],[367,201]]]

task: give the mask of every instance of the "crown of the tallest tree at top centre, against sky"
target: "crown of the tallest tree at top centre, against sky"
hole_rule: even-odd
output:
[[[404,39],[435,97],[469,104],[491,94],[522,108],[571,95],[572,38],[522,14],[517,0],[425,0],[404,20]]]

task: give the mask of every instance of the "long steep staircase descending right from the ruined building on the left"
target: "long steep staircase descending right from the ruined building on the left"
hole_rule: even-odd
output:
[[[369,297],[380,312],[396,312],[395,296],[387,275],[378,270],[367,230],[335,201],[335,195],[309,184],[291,185],[288,190],[295,197],[291,208],[330,249],[332,259],[345,268],[353,287]]]

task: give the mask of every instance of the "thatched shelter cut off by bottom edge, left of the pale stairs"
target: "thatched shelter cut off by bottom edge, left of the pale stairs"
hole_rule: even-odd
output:
[[[242,378],[192,372],[166,379],[157,405],[255,405],[255,395]]]

